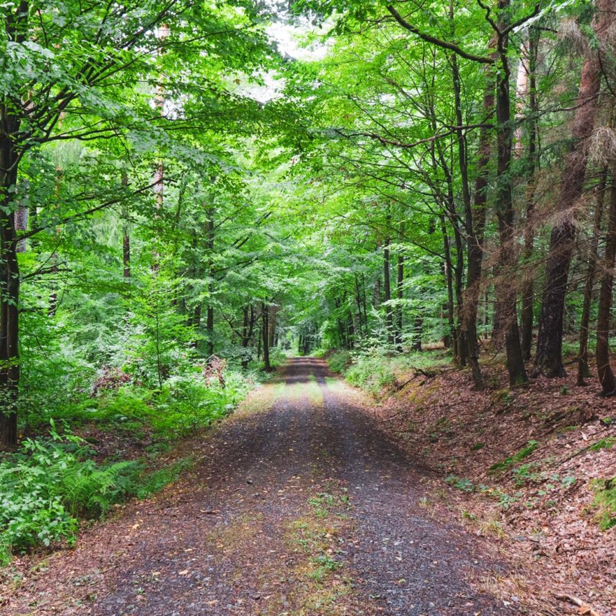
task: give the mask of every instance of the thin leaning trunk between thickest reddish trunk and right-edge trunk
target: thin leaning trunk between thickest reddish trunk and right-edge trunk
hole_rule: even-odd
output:
[[[579,324],[579,355],[577,358],[577,384],[586,385],[584,380],[590,375],[588,369],[588,330],[590,325],[590,306],[592,304],[592,289],[595,286],[595,272],[599,260],[599,235],[601,234],[601,219],[603,218],[603,205],[606,194],[608,168],[601,170],[601,178],[597,186],[597,201],[595,203],[595,223],[592,226],[592,239],[590,239],[590,251],[588,254],[588,270],[586,271],[586,283],[584,285],[584,307],[582,308],[581,321]]]

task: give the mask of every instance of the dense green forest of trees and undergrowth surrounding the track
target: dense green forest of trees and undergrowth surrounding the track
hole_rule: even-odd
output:
[[[149,460],[285,355],[616,393],[614,0],[0,10],[6,554],[176,472],[81,427]]]

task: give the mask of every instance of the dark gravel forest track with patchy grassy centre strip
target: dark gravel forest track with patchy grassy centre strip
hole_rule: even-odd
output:
[[[31,572],[7,615],[504,615],[494,563],[321,360],[200,441],[194,472]]]

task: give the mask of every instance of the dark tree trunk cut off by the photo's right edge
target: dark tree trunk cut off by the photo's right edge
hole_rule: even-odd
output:
[[[610,192],[610,218],[606,236],[606,252],[602,265],[599,315],[597,317],[597,373],[602,395],[616,395],[616,379],[610,366],[610,316],[616,258],[616,165],[613,167]]]

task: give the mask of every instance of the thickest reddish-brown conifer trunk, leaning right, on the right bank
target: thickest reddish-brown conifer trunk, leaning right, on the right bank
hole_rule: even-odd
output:
[[[575,203],[582,193],[586,176],[586,139],[592,133],[598,109],[601,85],[601,46],[613,24],[616,0],[596,0],[592,28],[599,44],[588,51],[584,60],[572,127],[572,151],[565,159],[561,194],[557,204],[559,218],[552,227],[550,250],[545,271],[545,287],[539,320],[539,335],[534,374],[560,377],[563,366],[563,315],[573,245],[575,243]]]

